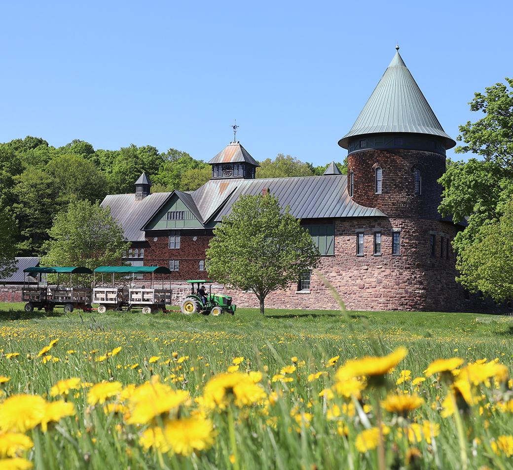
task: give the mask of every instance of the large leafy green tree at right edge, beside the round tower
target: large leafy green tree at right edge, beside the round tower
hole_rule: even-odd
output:
[[[492,289],[485,280],[483,269],[475,269],[479,249],[489,246],[490,227],[501,227],[507,232],[507,221],[502,221],[513,198],[513,80],[487,87],[485,93],[475,93],[470,109],[484,116],[476,122],[460,126],[457,153],[471,152],[482,159],[472,158],[468,162],[451,162],[440,179],[444,186],[440,211],[451,214],[455,221],[467,219],[468,226],[458,233],[453,241],[457,252],[459,282],[470,291],[481,290],[496,300],[513,297],[513,290]],[[508,212],[509,213],[509,212]],[[501,222],[502,221],[502,222]],[[513,232],[509,234],[513,238]],[[483,240],[488,240],[483,244]],[[494,238],[493,240],[497,240]],[[489,251],[487,251],[489,253]],[[490,259],[491,263],[498,260]],[[495,261],[494,261],[495,260]],[[488,273],[491,265],[486,264]],[[502,269],[499,265],[496,269]],[[490,279],[490,278],[488,278]]]

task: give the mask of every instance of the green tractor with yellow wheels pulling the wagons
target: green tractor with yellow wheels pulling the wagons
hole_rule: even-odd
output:
[[[187,282],[191,285],[191,293],[182,301],[183,314],[211,314],[214,317],[219,317],[225,313],[231,315],[235,313],[237,307],[231,304],[231,297],[212,293],[212,281],[192,280]],[[200,293],[202,284],[210,284],[209,290],[205,292],[204,296]]]

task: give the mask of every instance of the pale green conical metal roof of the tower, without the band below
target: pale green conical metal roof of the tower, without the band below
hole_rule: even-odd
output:
[[[383,132],[438,135],[445,148],[456,145],[447,135],[419,86],[406,67],[399,46],[392,62],[370,95],[351,130],[339,141],[348,148],[349,138]]]

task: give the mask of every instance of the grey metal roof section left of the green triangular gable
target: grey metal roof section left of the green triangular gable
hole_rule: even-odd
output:
[[[110,213],[122,226],[126,240],[140,242],[145,240],[141,227],[153,217],[171,194],[154,192],[140,201],[135,199],[135,194],[109,194],[102,201],[102,207],[110,207]]]

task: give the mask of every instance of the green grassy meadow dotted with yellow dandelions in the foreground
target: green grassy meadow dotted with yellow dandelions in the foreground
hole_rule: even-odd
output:
[[[513,468],[513,318],[349,314],[0,304],[0,468]]]

